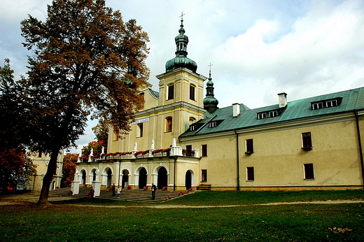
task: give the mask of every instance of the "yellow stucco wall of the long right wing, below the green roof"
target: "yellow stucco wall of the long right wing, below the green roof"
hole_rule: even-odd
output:
[[[240,186],[362,186],[355,119],[324,120],[304,120],[293,126],[238,131]],[[309,122],[316,124],[308,126]],[[364,127],[363,120],[360,123]],[[301,149],[303,132],[311,132],[313,150]],[[225,136],[215,136],[207,136],[205,140],[187,140],[183,144],[198,149],[203,144],[207,145],[208,156],[202,157],[200,162],[200,170],[207,169],[207,184],[221,188],[236,187],[236,135],[230,132]],[[250,138],[253,138],[254,153],[246,155],[246,139]],[[304,164],[309,163],[314,164],[314,180],[304,180]],[[249,166],[254,167],[253,181],[246,180],[246,167]]]

